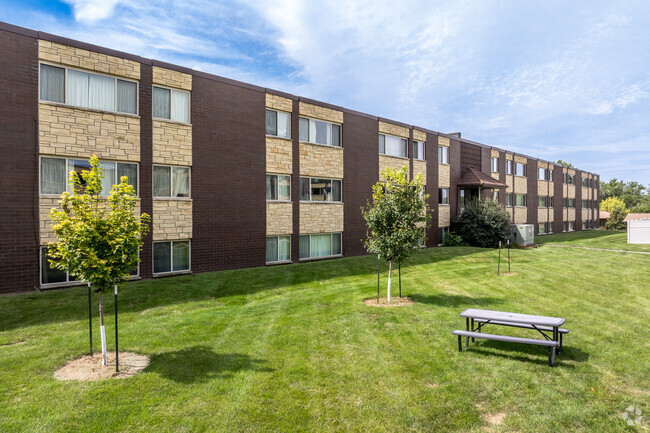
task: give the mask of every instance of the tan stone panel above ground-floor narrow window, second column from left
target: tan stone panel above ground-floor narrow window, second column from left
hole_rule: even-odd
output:
[[[192,200],[153,200],[154,241],[192,238]]]

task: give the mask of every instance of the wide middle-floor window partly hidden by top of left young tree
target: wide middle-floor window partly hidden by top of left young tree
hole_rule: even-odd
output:
[[[129,185],[133,186],[138,194],[138,164],[100,161],[104,170],[101,195],[107,196],[113,185],[120,183],[122,176],[127,177]],[[81,173],[90,171],[90,162],[83,159],[49,158],[41,157],[41,194],[61,194],[70,191],[68,176],[71,171],[79,173],[81,184],[85,181]]]

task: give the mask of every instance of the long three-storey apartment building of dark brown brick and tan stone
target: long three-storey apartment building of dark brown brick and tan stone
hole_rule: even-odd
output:
[[[95,154],[152,230],[134,278],[365,254],[385,167],[423,174],[427,247],[474,197],[536,234],[598,226],[596,174],[331,104],[0,23],[0,292],[75,284],[49,213]]]

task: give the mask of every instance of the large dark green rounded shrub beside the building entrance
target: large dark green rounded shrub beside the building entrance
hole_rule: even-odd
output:
[[[454,231],[472,246],[496,248],[508,239],[510,214],[499,202],[473,200],[453,221]]]

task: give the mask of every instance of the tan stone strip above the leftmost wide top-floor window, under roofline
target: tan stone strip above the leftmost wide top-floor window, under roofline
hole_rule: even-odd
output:
[[[95,53],[81,48],[69,47],[56,42],[39,39],[38,57],[40,60],[47,62],[116,75],[132,80],[140,79],[140,63],[138,62]]]

